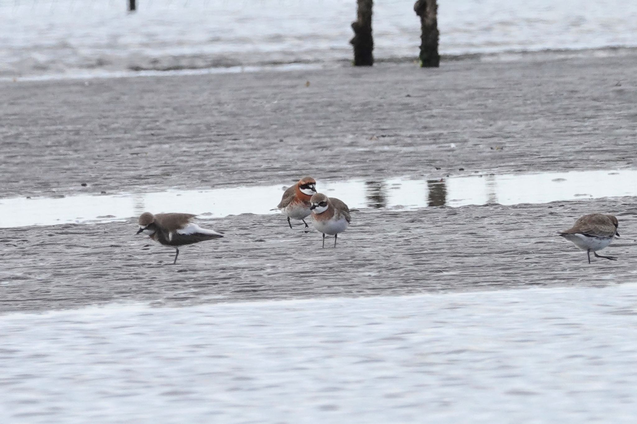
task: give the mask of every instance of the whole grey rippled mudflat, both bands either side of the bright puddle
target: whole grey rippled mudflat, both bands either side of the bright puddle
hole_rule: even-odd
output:
[[[18,80],[0,84],[0,196],[629,168],[636,74],[637,56],[624,55]],[[607,212],[630,238],[633,204],[361,209],[336,249],[276,215],[231,215],[201,220],[227,236],[185,247],[176,266],[174,250],[134,236],[133,217],[0,229],[0,310],[634,281],[633,241],[605,250],[619,261],[589,265],[555,234],[580,215]]]

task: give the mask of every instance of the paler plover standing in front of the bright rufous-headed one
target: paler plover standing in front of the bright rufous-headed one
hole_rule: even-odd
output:
[[[323,247],[325,247],[325,235],[334,236],[334,247],[338,233],[347,229],[352,218],[350,209],[335,197],[327,197],[323,193],[317,193],[310,199],[310,209],[314,228],[323,233]]]

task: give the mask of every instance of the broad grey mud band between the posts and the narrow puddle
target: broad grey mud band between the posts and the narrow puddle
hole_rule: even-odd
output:
[[[627,55],[0,83],[0,197],[631,167],[636,74]]]

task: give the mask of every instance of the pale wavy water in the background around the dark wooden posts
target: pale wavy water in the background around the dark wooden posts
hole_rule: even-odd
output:
[[[0,15],[0,76],[117,76],[349,62],[355,1],[11,0]],[[620,0],[441,0],[438,24],[445,55],[637,46],[637,4]],[[375,3],[373,25],[376,58],[417,56],[413,0]]]

